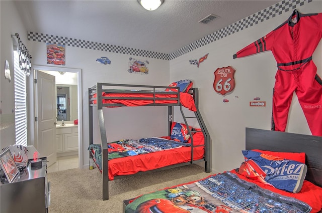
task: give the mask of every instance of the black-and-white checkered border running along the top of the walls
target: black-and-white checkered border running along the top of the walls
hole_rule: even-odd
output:
[[[126,54],[132,56],[140,56],[140,57],[147,57],[147,58],[155,58],[155,59],[162,59],[162,60],[172,60],[178,58],[182,55],[185,55],[195,49],[198,49],[202,46],[210,44],[214,41],[222,39],[226,36],[244,30],[246,28],[252,27],[253,25],[257,25],[265,20],[273,18],[275,16],[281,15],[283,12],[288,12],[290,10],[296,9],[296,7],[303,6],[306,3],[310,3],[312,0],[292,0],[287,1],[283,0],[274,6],[266,8],[256,14],[253,14],[245,19],[239,20],[223,29],[218,30],[215,33],[212,33],[208,36],[191,43],[171,54],[166,53],[156,53],[152,51],[140,50],[135,48],[128,48],[128,47],[121,47],[116,45],[109,45],[79,39],[72,39],[67,37],[59,37],[53,36],[43,33],[33,33],[27,32],[27,39],[29,41],[34,42],[44,42],[44,43],[51,43],[51,44],[60,44],[70,47],[77,47],[77,48],[85,48],[90,50],[98,50],[98,51],[106,51],[111,53],[119,53],[119,54]]]

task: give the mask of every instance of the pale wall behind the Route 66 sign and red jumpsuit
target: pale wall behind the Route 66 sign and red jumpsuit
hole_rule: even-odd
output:
[[[303,14],[321,13],[322,1],[313,1],[297,9]],[[212,139],[211,168],[215,172],[240,165],[246,127],[271,129],[272,93],[277,71],[271,51],[237,59],[232,59],[232,55],[274,30],[291,14],[292,10],[289,10],[170,61],[170,81],[185,76],[199,88],[199,108]],[[199,59],[207,53],[208,58],[199,69],[189,64],[189,60]],[[322,76],[321,53],[322,42],[313,54],[319,76]],[[230,94],[222,96],[213,89],[213,73],[217,68],[227,66],[236,70],[236,85]],[[266,107],[250,107],[249,102],[255,97],[266,101]],[[224,98],[229,102],[224,103]],[[286,131],[311,135],[296,96],[293,97]]]

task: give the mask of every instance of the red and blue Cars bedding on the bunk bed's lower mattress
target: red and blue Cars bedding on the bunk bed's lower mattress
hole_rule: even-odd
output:
[[[203,140],[203,137],[196,137],[195,143],[198,144],[199,140]],[[182,143],[158,137],[141,138],[139,140],[119,140],[108,143],[108,147],[108,173],[110,180],[113,180],[114,176],[134,174],[138,171],[147,171],[167,165],[189,162],[192,151],[189,142]],[[88,150],[92,152],[93,160],[98,168],[102,170],[101,144],[91,144]],[[194,160],[203,158],[203,146],[194,147],[193,151]]]

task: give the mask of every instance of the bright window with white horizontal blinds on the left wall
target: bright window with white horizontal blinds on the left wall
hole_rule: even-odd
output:
[[[16,144],[27,146],[26,73],[19,67],[18,51],[14,51],[14,61]]]

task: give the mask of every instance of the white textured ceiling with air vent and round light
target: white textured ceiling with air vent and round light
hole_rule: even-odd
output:
[[[280,1],[15,1],[27,31],[170,54]],[[198,23],[214,14],[209,24]]]

